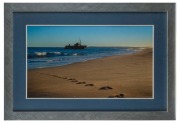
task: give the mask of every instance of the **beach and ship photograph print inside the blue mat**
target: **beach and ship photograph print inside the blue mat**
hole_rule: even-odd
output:
[[[153,25],[26,25],[28,99],[154,98]]]

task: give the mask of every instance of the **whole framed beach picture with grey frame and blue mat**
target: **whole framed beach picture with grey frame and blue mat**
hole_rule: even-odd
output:
[[[5,3],[6,120],[175,119],[175,3]]]

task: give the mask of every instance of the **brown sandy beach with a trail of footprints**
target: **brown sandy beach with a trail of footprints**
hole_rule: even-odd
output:
[[[27,72],[28,98],[152,98],[152,49]]]

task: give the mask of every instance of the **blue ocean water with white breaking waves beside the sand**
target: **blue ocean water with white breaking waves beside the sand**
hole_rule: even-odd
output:
[[[85,62],[107,56],[135,53],[142,48],[130,47],[87,47],[84,50],[64,49],[63,47],[28,47],[28,69],[63,66]]]

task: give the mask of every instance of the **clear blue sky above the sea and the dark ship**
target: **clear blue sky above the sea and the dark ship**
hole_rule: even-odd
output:
[[[27,26],[28,47],[87,46],[152,47],[152,26]]]

